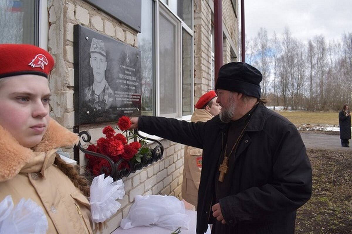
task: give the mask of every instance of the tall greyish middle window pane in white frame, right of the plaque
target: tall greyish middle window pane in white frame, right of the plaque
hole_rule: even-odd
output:
[[[160,114],[176,117],[176,25],[159,14]]]

